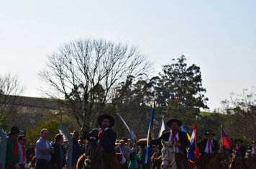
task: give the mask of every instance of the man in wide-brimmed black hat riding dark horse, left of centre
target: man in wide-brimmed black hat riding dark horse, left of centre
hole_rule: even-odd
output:
[[[109,164],[109,160],[106,161],[107,155],[109,155],[109,158],[116,157],[116,151],[114,149],[116,143],[116,132],[111,130],[111,127],[114,126],[114,118],[111,117],[111,115],[101,115],[98,118],[97,123],[100,128],[93,129],[90,133],[86,132],[85,127],[82,128],[83,138],[87,139],[92,145],[95,145],[95,140],[93,138],[96,138],[96,141],[101,145],[102,157],[105,159],[105,165],[117,165],[118,168],[118,163]]]

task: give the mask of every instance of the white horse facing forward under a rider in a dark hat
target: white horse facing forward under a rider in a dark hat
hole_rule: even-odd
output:
[[[175,160],[175,152],[173,149],[173,145],[175,145],[175,141],[173,142],[165,142],[165,140],[161,140],[161,143],[163,145],[162,148],[162,164],[161,168],[163,169],[177,169],[177,164]]]

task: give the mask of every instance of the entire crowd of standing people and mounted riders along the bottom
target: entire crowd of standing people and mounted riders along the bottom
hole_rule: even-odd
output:
[[[73,136],[73,152],[70,153],[72,154],[72,169],[78,168],[77,163],[78,159],[81,158],[81,154],[88,153],[89,146],[93,145],[92,147],[95,148],[97,144],[101,147],[101,160],[104,162],[104,164],[102,164],[106,169],[120,168],[120,163],[122,169],[155,168],[160,161],[160,150],[163,148],[163,145],[161,145],[162,140],[167,142],[175,141],[174,151],[177,155],[177,162],[180,165],[179,168],[191,168],[187,155],[187,148],[190,147],[191,143],[188,140],[186,132],[178,130],[178,127],[182,125],[180,120],[169,120],[167,125],[171,130],[165,130],[156,140],[150,140],[151,145],[153,145],[152,154],[156,154],[155,160],[151,162],[151,167],[145,162],[147,156],[145,143],[134,142],[134,144],[131,144],[129,143],[128,137],[122,137],[121,140],[116,142],[116,132],[111,130],[111,127],[114,126],[114,118],[110,115],[101,115],[97,122],[100,127],[93,129],[91,132],[86,132],[85,128],[81,128],[83,135],[81,135],[81,132],[78,130],[74,130],[70,133],[70,135]],[[25,169],[27,162],[24,146],[27,143],[26,136],[20,135],[18,127],[12,127],[7,135],[5,168]],[[48,130],[46,128],[40,131],[40,135],[41,137],[35,144],[35,167],[37,169],[60,169],[65,167],[69,153],[67,152],[67,146],[64,144],[63,135],[55,135],[54,143],[50,143],[47,140]],[[213,131],[209,130],[204,135],[206,135],[204,139],[201,140],[200,137],[197,139],[200,158],[196,160],[196,163],[202,166],[205,165],[206,158],[212,157],[211,155],[220,150],[219,143],[214,140],[215,133]],[[237,145],[234,145],[234,148],[239,150],[242,163],[245,165],[244,156],[246,150],[244,146],[242,146],[243,140],[237,139],[235,142]],[[252,150],[252,155],[256,154],[256,142],[252,143],[250,150]],[[116,163],[116,165],[114,163]]]

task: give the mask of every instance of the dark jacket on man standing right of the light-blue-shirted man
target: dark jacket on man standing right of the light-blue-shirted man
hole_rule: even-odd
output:
[[[56,164],[58,166],[58,168],[63,168],[64,165],[66,164],[63,146],[62,145],[58,146],[58,143],[53,143],[52,148],[54,148],[54,153],[52,154],[52,157],[51,157],[51,160],[50,160],[51,165]],[[60,157],[61,157],[60,148],[62,149],[62,153],[63,153],[63,163],[62,164],[60,163],[60,161],[61,161],[61,159],[60,159]]]

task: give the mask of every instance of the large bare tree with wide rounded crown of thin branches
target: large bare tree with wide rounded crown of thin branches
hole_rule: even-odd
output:
[[[48,84],[42,93],[57,100],[65,107],[63,113],[73,115],[80,126],[83,93],[89,93],[86,127],[95,127],[99,115],[113,113],[108,103],[114,100],[116,87],[146,77],[151,68],[152,63],[136,47],[104,39],[79,39],[50,54],[38,75]]]

